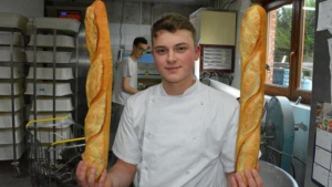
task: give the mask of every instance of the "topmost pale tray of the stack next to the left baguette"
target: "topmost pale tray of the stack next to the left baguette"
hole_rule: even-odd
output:
[[[75,19],[63,18],[34,18],[37,29],[55,29],[69,33],[77,33],[81,22]]]

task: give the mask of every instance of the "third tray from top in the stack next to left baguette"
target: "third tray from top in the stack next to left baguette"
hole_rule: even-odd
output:
[[[33,62],[33,51],[25,51],[28,62]],[[72,52],[56,52],[55,63],[71,63]],[[37,51],[37,63],[53,63],[53,51]]]

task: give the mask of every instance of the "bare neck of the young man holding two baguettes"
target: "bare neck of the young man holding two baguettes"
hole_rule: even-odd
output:
[[[177,83],[163,80],[163,87],[168,95],[183,95],[185,91],[189,89],[193,84],[195,84],[195,80],[193,77],[188,79],[187,81],[181,81]]]

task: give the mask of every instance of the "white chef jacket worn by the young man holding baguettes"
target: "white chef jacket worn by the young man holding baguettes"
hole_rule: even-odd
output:
[[[136,187],[226,187],[238,120],[238,102],[199,81],[181,96],[158,84],[127,100],[113,152],[137,165]]]

